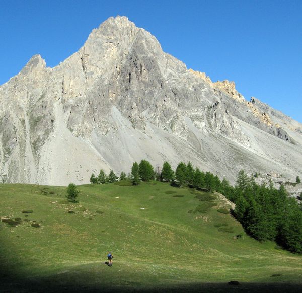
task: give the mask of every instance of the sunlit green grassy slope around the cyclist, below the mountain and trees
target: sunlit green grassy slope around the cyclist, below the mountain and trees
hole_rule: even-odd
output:
[[[300,282],[301,256],[245,234],[233,239],[243,229],[230,215],[217,212],[218,206],[188,213],[207,204],[192,190],[161,182],[79,189],[80,202],[68,204],[65,187],[0,185],[0,216],[41,224],[34,228],[32,222],[17,227],[0,223],[0,263],[7,283],[25,278],[83,289],[141,289],[230,280]],[[184,196],[174,197],[178,194]],[[25,217],[23,209],[34,212]],[[234,232],[218,231],[214,225],[221,223]],[[112,268],[104,264],[109,250]]]

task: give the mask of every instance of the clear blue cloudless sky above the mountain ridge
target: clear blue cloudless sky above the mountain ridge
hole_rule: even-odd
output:
[[[117,15],[155,35],[188,68],[233,80],[246,99],[302,122],[302,0],[2,1],[0,84],[34,54],[57,65]]]

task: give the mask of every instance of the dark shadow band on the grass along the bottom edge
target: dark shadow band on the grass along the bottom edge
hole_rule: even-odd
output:
[[[105,264],[109,264],[107,261]],[[139,281],[138,284],[124,286],[117,284],[115,280],[102,282],[102,278],[99,277],[91,282],[89,275],[91,272],[87,272],[87,276],[82,276],[82,282],[79,282],[78,274],[66,274],[62,278],[61,274],[54,274],[48,277],[34,277],[25,276],[14,273],[14,269],[11,267],[4,267],[0,264],[0,291],[1,292],[158,292],[158,293],[177,293],[177,292],[203,292],[203,293],[224,293],[224,292],[267,292],[267,293],[284,293],[284,292],[300,292],[300,283],[289,282],[272,282],[272,283],[242,283],[230,280],[229,282],[220,283],[188,283],[185,280],[183,282],[166,285],[154,283],[144,284],[144,280]],[[84,273],[85,274],[85,273]],[[278,274],[273,275],[275,278]]]

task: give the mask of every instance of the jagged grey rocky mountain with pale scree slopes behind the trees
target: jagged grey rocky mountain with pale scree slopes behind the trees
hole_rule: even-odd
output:
[[[190,160],[232,182],[240,169],[302,176],[300,123],[188,70],[126,17],[54,68],[33,56],[0,86],[0,122],[3,182],[88,183],[143,158]]]

